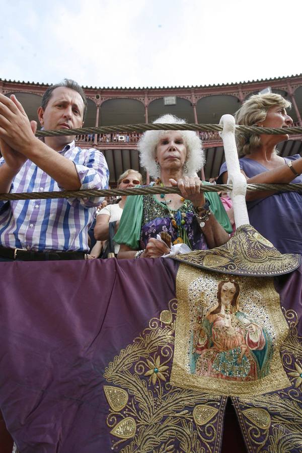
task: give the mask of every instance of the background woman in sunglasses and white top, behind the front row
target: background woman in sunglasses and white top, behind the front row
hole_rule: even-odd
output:
[[[120,175],[117,187],[119,189],[128,189],[130,187],[135,187],[139,184],[142,184],[142,176],[136,170],[126,170],[122,175]],[[115,225],[115,232],[118,229],[119,221],[123,213],[123,208],[126,202],[127,196],[124,195],[121,197],[118,203],[116,204],[109,204],[108,206],[101,209],[99,214],[97,215],[97,221],[94,229],[95,238],[97,239],[97,244],[91,251],[91,254],[94,255],[96,258],[101,253],[101,241],[105,241],[103,243],[104,249],[106,248],[106,243],[109,239],[109,223],[116,221]],[[119,244],[114,244],[114,253],[115,255],[119,251]]]

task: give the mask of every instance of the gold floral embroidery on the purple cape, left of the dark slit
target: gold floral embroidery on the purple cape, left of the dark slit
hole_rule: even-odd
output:
[[[173,299],[169,303],[173,319],[176,309],[176,299]],[[226,398],[170,385],[168,367],[173,357],[173,319],[169,325],[157,318],[150,320],[148,327],[105,368],[107,383],[113,383],[118,386],[114,389],[128,394],[122,411],[109,404],[106,420],[111,434],[122,439],[113,443],[112,448],[126,442],[120,453],[166,453],[176,451],[175,445],[178,451],[187,453],[218,453]],[[207,408],[207,412],[202,413],[200,407]]]

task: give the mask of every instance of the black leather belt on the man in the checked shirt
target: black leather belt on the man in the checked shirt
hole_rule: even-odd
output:
[[[0,247],[0,256],[17,261],[58,261],[58,260],[85,260],[85,252],[33,252],[24,249],[9,249]]]

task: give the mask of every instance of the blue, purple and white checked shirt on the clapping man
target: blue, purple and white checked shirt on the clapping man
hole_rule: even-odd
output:
[[[81,149],[74,141],[59,152],[72,161],[81,189],[107,189],[108,166],[97,149]],[[0,166],[4,159],[0,159]],[[64,190],[47,173],[27,160],[10,192]],[[88,229],[103,198],[59,198],[0,201],[0,245],[33,251],[87,252]]]

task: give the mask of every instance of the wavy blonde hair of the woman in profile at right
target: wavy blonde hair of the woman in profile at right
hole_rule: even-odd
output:
[[[258,126],[261,121],[265,120],[268,110],[275,106],[287,109],[291,107],[291,103],[276,93],[253,95],[235,113],[236,124]],[[251,154],[251,149],[261,145],[261,138],[258,134],[237,131],[236,144],[239,157],[243,157]]]

